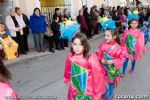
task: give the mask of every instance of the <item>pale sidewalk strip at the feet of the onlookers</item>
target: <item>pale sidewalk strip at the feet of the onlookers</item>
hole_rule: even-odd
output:
[[[103,35],[103,33],[95,35],[89,41],[97,39],[97,38],[101,37],[102,35]],[[57,52],[55,52],[55,53],[57,53]],[[14,60],[4,60],[4,63],[7,66],[15,66],[18,64],[22,64],[22,63],[29,63],[29,62],[35,61],[36,59],[40,59],[40,58],[49,56],[51,54],[53,54],[53,53],[49,52],[48,50],[46,50],[45,52],[40,52],[40,53],[37,52],[36,50],[30,50],[27,55],[21,54],[18,58],[14,59]]]

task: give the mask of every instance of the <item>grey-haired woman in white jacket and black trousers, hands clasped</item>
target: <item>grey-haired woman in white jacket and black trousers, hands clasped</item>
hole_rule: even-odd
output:
[[[10,32],[11,37],[18,43],[18,54],[19,50],[21,54],[27,54],[25,52],[24,47],[24,39],[23,39],[23,23],[18,16],[16,16],[15,9],[10,9],[10,14],[6,17],[6,26]]]

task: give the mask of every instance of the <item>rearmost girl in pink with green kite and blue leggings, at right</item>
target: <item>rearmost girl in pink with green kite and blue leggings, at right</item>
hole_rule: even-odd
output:
[[[126,50],[126,61],[123,65],[121,76],[125,76],[128,61],[131,59],[130,74],[134,72],[136,60],[140,60],[146,51],[144,44],[144,33],[137,29],[139,25],[138,19],[132,19],[129,21],[130,29],[125,30],[122,36],[122,46]]]

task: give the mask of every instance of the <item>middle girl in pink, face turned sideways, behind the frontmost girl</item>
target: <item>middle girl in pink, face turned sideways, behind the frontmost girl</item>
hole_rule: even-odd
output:
[[[105,41],[100,43],[96,52],[103,66],[104,79],[108,83],[108,88],[104,95],[107,100],[113,99],[114,86],[120,80],[120,68],[125,61],[125,50],[119,43],[119,36],[115,30],[105,30]]]

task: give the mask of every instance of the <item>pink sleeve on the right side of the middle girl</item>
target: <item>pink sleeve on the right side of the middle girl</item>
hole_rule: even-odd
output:
[[[121,46],[117,46],[117,52],[115,59],[113,60],[115,68],[120,69],[125,61],[125,49]]]

